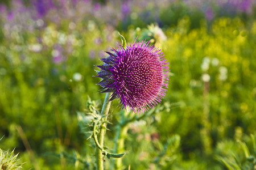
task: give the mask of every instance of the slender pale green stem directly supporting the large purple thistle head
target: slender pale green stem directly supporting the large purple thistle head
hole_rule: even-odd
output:
[[[98,130],[100,134],[100,138],[99,138],[100,146],[103,146],[104,135],[106,133],[106,124],[107,124],[108,113],[109,113],[109,108],[111,104],[111,101],[109,101],[110,95],[111,93],[106,93],[105,100],[101,109],[101,116],[105,116],[105,117],[104,117],[103,123],[100,126],[100,129]],[[104,165],[103,165],[102,151],[100,150],[100,148],[97,148],[96,155],[97,155],[97,168],[98,170],[103,170]]]

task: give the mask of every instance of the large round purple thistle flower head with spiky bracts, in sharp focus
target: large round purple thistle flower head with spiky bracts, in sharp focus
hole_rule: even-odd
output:
[[[108,57],[98,71],[101,92],[113,92],[123,108],[143,113],[158,104],[168,88],[168,63],[163,52],[149,42],[131,42],[126,48],[106,52]]]

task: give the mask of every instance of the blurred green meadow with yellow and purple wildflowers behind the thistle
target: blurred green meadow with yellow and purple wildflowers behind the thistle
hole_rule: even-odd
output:
[[[95,146],[77,112],[86,113],[88,96],[101,108],[94,69],[121,43],[120,32],[128,42],[149,40],[170,63],[162,103],[129,126],[123,168],[256,169],[255,7],[250,0],[2,1],[0,148],[15,148],[23,169],[93,169]],[[120,110],[114,100],[110,150]]]

